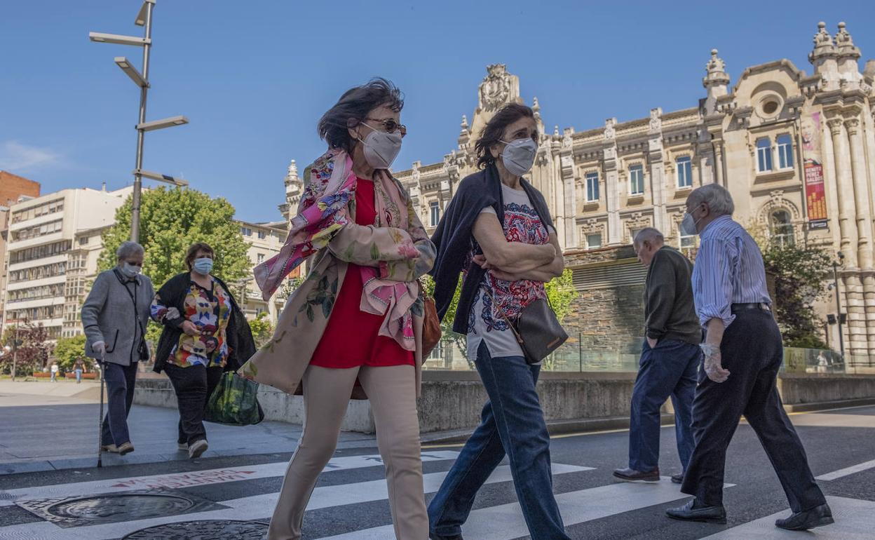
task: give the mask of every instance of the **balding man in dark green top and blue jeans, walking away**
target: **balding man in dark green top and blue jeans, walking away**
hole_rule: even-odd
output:
[[[629,466],[613,475],[626,481],[659,481],[660,409],[671,396],[681,465],[693,452],[692,409],[702,351],[702,328],[693,303],[693,265],[665,245],[655,228],[634,238],[635,254],[648,267],[644,290],[645,336],[640,368],[632,392]],[[683,481],[683,473],[671,476]]]

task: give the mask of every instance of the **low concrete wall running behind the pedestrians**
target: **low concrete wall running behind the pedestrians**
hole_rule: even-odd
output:
[[[479,422],[486,391],[473,372],[425,372],[418,403],[423,434],[436,431],[471,430]],[[543,373],[538,395],[551,431],[598,427],[624,427],[628,423],[634,373]],[[785,375],[778,381],[784,403],[813,405],[875,400],[873,375]],[[301,396],[263,386],[258,398],[265,419],[301,424]],[[176,396],[166,379],[137,381],[135,403],[176,407]],[[669,414],[670,406],[663,408]],[[374,432],[374,419],[367,401],[350,401],[341,426],[344,431]]]

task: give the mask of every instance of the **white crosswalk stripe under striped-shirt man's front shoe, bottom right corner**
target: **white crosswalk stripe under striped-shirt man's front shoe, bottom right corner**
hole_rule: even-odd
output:
[[[828,496],[826,501],[830,503],[836,522],[814,529],[807,534],[778,529],[774,526],[774,520],[790,515],[788,510],[784,510],[720,531],[716,535],[706,536],[703,540],[737,540],[738,538],[778,540],[806,536],[816,537],[817,540],[872,540],[872,530],[875,530],[875,501],[831,496]]]

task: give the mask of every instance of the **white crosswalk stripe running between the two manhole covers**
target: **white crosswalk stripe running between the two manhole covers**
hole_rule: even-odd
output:
[[[553,473],[577,473],[592,470],[592,467],[573,466],[554,463]],[[426,493],[437,491],[446,476],[444,473],[423,474],[423,486]],[[487,484],[507,482],[513,480],[509,466],[499,466],[486,480]],[[42,540],[109,540],[124,536],[134,530],[144,529],[153,525],[171,522],[186,522],[206,519],[262,519],[268,517],[276,504],[278,493],[258,494],[230,501],[217,501],[229,508],[198,512],[184,515],[169,515],[152,519],[144,519],[130,522],[104,523],[85,527],[69,529],[59,528],[50,522],[27,523],[0,527],[0,540],[22,540],[28,538],[40,538]],[[368,501],[381,501],[388,497],[386,480],[370,480],[351,484],[339,484],[336,486],[317,487],[313,490],[308,510],[318,508],[331,508],[344,504],[355,504]],[[390,528],[391,529],[391,528]],[[390,535],[392,533],[390,532]],[[387,537],[383,536],[382,540]]]

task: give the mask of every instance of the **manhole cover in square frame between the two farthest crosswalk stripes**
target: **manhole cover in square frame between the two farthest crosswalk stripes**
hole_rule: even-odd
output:
[[[59,527],[128,522],[228,508],[190,494],[159,489],[17,501],[16,504]]]

